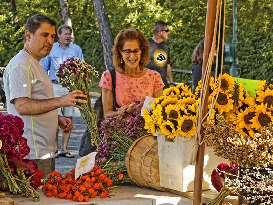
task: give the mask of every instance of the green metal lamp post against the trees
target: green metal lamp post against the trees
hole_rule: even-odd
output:
[[[234,49],[234,59],[230,67],[229,74],[233,77],[241,76],[241,69],[239,68],[238,49],[237,49],[237,6],[236,0],[232,1],[232,45]]]

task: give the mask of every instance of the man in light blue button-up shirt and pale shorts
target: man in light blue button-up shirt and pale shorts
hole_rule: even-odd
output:
[[[65,61],[67,58],[74,58],[78,57],[82,61],[84,60],[81,48],[71,43],[71,33],[72,29],[68,25],[61,25],[58,28],[58,42],[54,43],[52,50],[48,56],[41,59],[40,64],[48,74],[49,78],[52,81],[52,86],[54,90],[54,96],[60,97],[66,95],[68,93],[67,88],[62,87],[62,85],[58,82],[58,77],[56,76],[56,71],[59,69],[59,64]],[[75,107],[67,107],[67,108],[59,108],[58,114],[61,116],[68,117],[72,120],[72,117],[79,117],[80,111],[78,108]],[[54,145],[56,158],[58,157],[58,134],[56,134],[56,141]],[[67,150],[68,140],[70,138],[69,133],[62,134],[62,149],[60,152],[60,156],[73,158],[74,156],[70,154]]]

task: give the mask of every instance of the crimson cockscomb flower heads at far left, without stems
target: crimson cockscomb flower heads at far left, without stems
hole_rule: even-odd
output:
[[[27,139],[22,137],[23,128],[24,122],[20,117],[0,113],[0,140],[3,145],[0,152],[5,152],[11,173],[17,175],[17,169],[22,170],[30,185],[36,189],[40,186],[43,173],[34,161],[23,159],[30,152]],[[0,190],[6,190],[8,186],[4,181],[0,181]]]

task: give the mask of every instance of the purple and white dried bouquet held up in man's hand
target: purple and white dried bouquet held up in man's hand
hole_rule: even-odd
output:
[[[98,77],[98,71],[95,67],[81,61],[79,58],[68,58],[66,61],[60,64],[56,75],[59,78],[60,84],[66,87],[69,91],[78,89],[88,95],[93,78]],[[87,97],[86,100],[86,104],[79,103],[79,105],[82,107],[82,109],[80,109],[80,113],[91,133],[91,144],[98,147],[100,140],[97,127],[97,115],[93,109],[90,98]]]

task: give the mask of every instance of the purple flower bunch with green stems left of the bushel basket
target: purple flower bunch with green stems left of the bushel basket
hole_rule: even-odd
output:
[[[140,110],[129,119],[121,116],[104,119],[99,131],[102,143],[96,158],[98,165],[111,174],[114,183],[132,182],[127,175],[125,157],[134,141],[148,134],[144,129],[144,119],[140,115]],[[118,179],[120,173],[123,174],[122,180]]]

